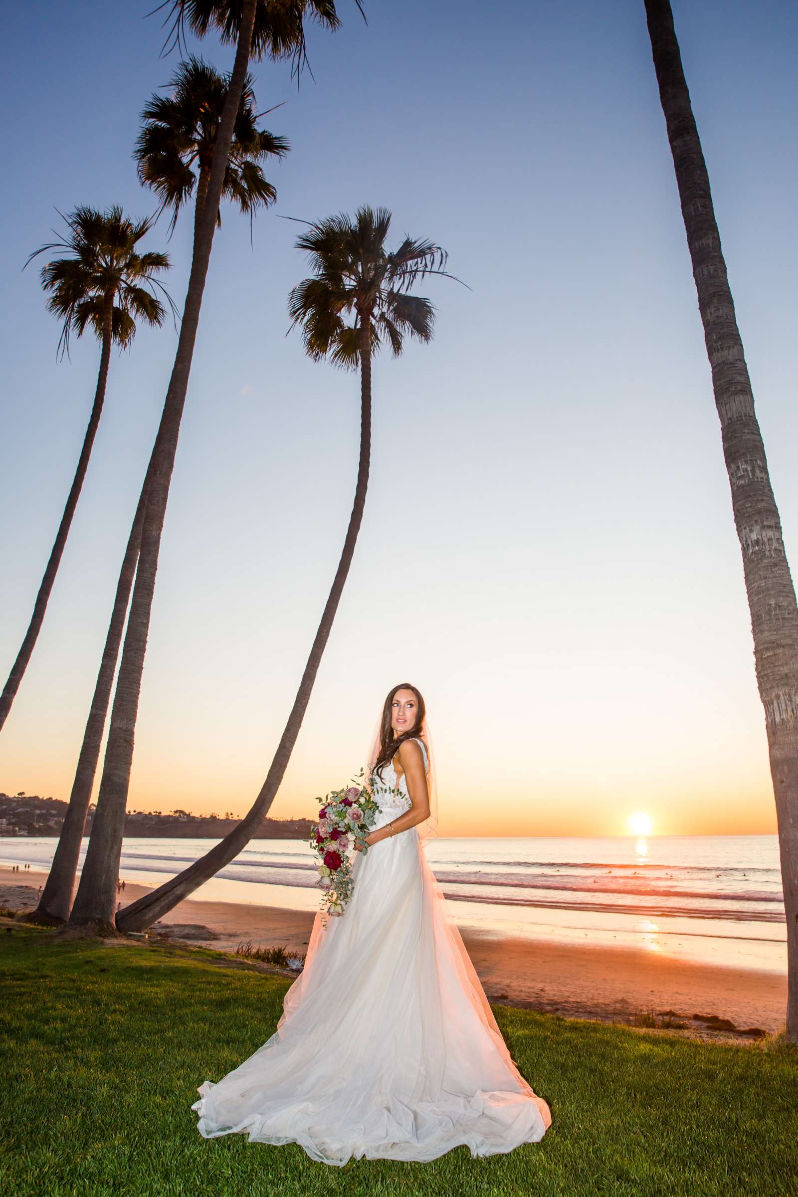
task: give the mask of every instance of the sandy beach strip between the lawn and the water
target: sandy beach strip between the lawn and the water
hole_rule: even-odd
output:
[[[0,869],[0,904],[32,907],[44,880],[43,873]],[[146,892],[128,882],[123,901]],[[153,932],[172,928],[177,940],[221,950],[251,941],[301,954],[312,922],[313,915],[304,911],[189,899]],[[638,1011],[672,1011],[700,1034],[724,1031],[717,1020],[727,1022],[725,1032],[732,1034],[732,1027],[778,1032],[785,1022],[787,979],[775,972],[694,964],[650,949],[552,943],[467,925],[461,932],[492,1002],[623,1022]]]

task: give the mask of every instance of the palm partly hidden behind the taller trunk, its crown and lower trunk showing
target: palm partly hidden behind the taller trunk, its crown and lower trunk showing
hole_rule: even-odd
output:
[[[213,164],[215,140],[230,87],[230,77],[193,57],[177,68],[165,96],[151,97],[141,114],[142,128],[134,158],[139,178],[160,199],[160,209],[171,211],[173,229],[182,208],[194,199],[194,235],[201,226],[205,198]],[[250,219],[258,207],[276,199],[260,163],[288,152],[284,138],[257,128],[252,81],[244,81],[230,144],[223,199],[232,201]],[[217,214],[217,226],[221,214]],[[108,717],[124,616],[135,577],[146,503],[142,497],[133,522],[117,583],[114,609],[105,639],[83,745],[78,758],[67,814],[53,865],[36,911],[35,922],[62,923],[69,916],[89,802],[97,773],[99,749]]]

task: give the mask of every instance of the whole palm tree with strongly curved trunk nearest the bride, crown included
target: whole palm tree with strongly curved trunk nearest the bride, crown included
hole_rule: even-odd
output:
[[[120,911],[123,931],[150,926],[199,886],[224,868],[250,841],[268,814],[291,759],[310,700],[322,654],[333,627],[360,530],[368,485],[371,451],[371,359],[383,344],[394,357],[404,338],[430,341],[434,310],[428,299],[408,293],[426,274],[445,274],[446,255],[432,242],[404,237],[389,253],[385,238],[391,215],[384,208],[359,208],[354,220],[330,217],[310,225],[297,248],[311,255],[313,273],[293,288],[288,310],[303,330],[305,351],[315,360],[329,358],[345,370],[360,369],[360,461],[349,516],[333,587],[305,664],[299,691],[263,786],[251,809],[209,852],[171,881]]]

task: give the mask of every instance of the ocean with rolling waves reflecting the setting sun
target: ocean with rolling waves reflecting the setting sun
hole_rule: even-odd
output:
[[[160,885],[213,843],[127,839],[120,876]],[[47,870],[55,844],[2,837],[0,864]],[[461,925],[786,972],[775,836],[440,838],[426,853]],[[312,911],[316,876],[304,841],[252,840],[194,897]]]

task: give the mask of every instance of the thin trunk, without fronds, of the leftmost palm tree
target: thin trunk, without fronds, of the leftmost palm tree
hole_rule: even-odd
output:
[[[95,437],[97,436],[97,429],[99,426],[99,418],[103,414],[103,402],[105,401],[108,367],[111,360],[112,320],[114,292],[111,291],[105,296],[103,306],[103,348],[99,357],[99,373],[97,376],[97,388],[95,390],[95,402],[91,409],[91,417],[89,418],[89,427],[86,429],[83,449],[80,450],[80,457],[78,458],[75,476],[72,480],[67,505],[63,509],[55,543],[53,545],[53,551],[50,552],[50,559],[47,563],[44,577],[42,578],[42,584],[38,588],[38,594],[36,595],[33,614],[30,624],[28,625],[28,631],[25,632],[22,648],[17,654],[17,660],[14,661],[11,673],[8,674],[8,680],[2,689],[2,694],[0,694],[0,728],[2,728],[6,722],[8,711],[11,710],[11,704],[13,703],[17,691],[19,689],[19,685],[25,675],[25,669],[28,668],[28,663],[36,646],[38,633],[42,630],[44,612],[47,610],[47,604],[50,598],[50,591],[55,584],[55,576],[59,572],[59,565],[61,564],[61,558],[63,557],[63,549],[66,548],[67,536],[69,535],[69,528],[72,525],[72,517],[75,514],[78,499],[80,498],[80,491],[89,468],[89,458],[91,457],[91,450],[95,444]]]

